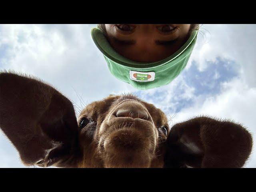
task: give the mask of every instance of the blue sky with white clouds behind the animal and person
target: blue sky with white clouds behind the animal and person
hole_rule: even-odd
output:
[[[239,122],[256,140],[255,24],[202,24],[185,70],[170,84],[143,91],[110,74],[90,36],[95,26],[2,24],[0,70],[37,76],[72,100],[76,109],[109,94],[131,92],[162,109],[171,117],[170,126],[207,115]],[[25,167],[2,132],[0,157],[1,168]],[[244,167],[256,168],[255,142]]]

